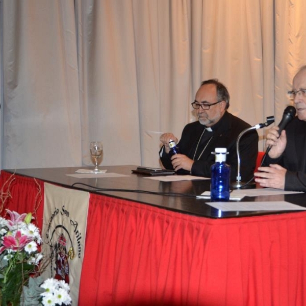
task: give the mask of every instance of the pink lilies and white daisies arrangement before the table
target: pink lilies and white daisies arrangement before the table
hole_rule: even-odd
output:
[[[70,288],[64,281],[43,282],[42,239],[32,214],[7,210],[0,217],[0,305],[70,305]]]

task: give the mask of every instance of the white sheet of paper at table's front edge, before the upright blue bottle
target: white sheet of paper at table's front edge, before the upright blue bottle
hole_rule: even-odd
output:
[[[298,206],[286,201],[267,202],[206,202],[206,204],[221,210],[229,211],[283,211],[283,210],[306,210],[305,207]]]

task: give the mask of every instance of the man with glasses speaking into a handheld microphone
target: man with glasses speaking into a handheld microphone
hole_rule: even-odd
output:
[[[302,66],[293,78],[293,99],[297,116],[281,135],[278,126],[267,134],[266,146],[270,151],[264,166],[256,172],[255,181],[262,187],[306,192],[306,66]]]

